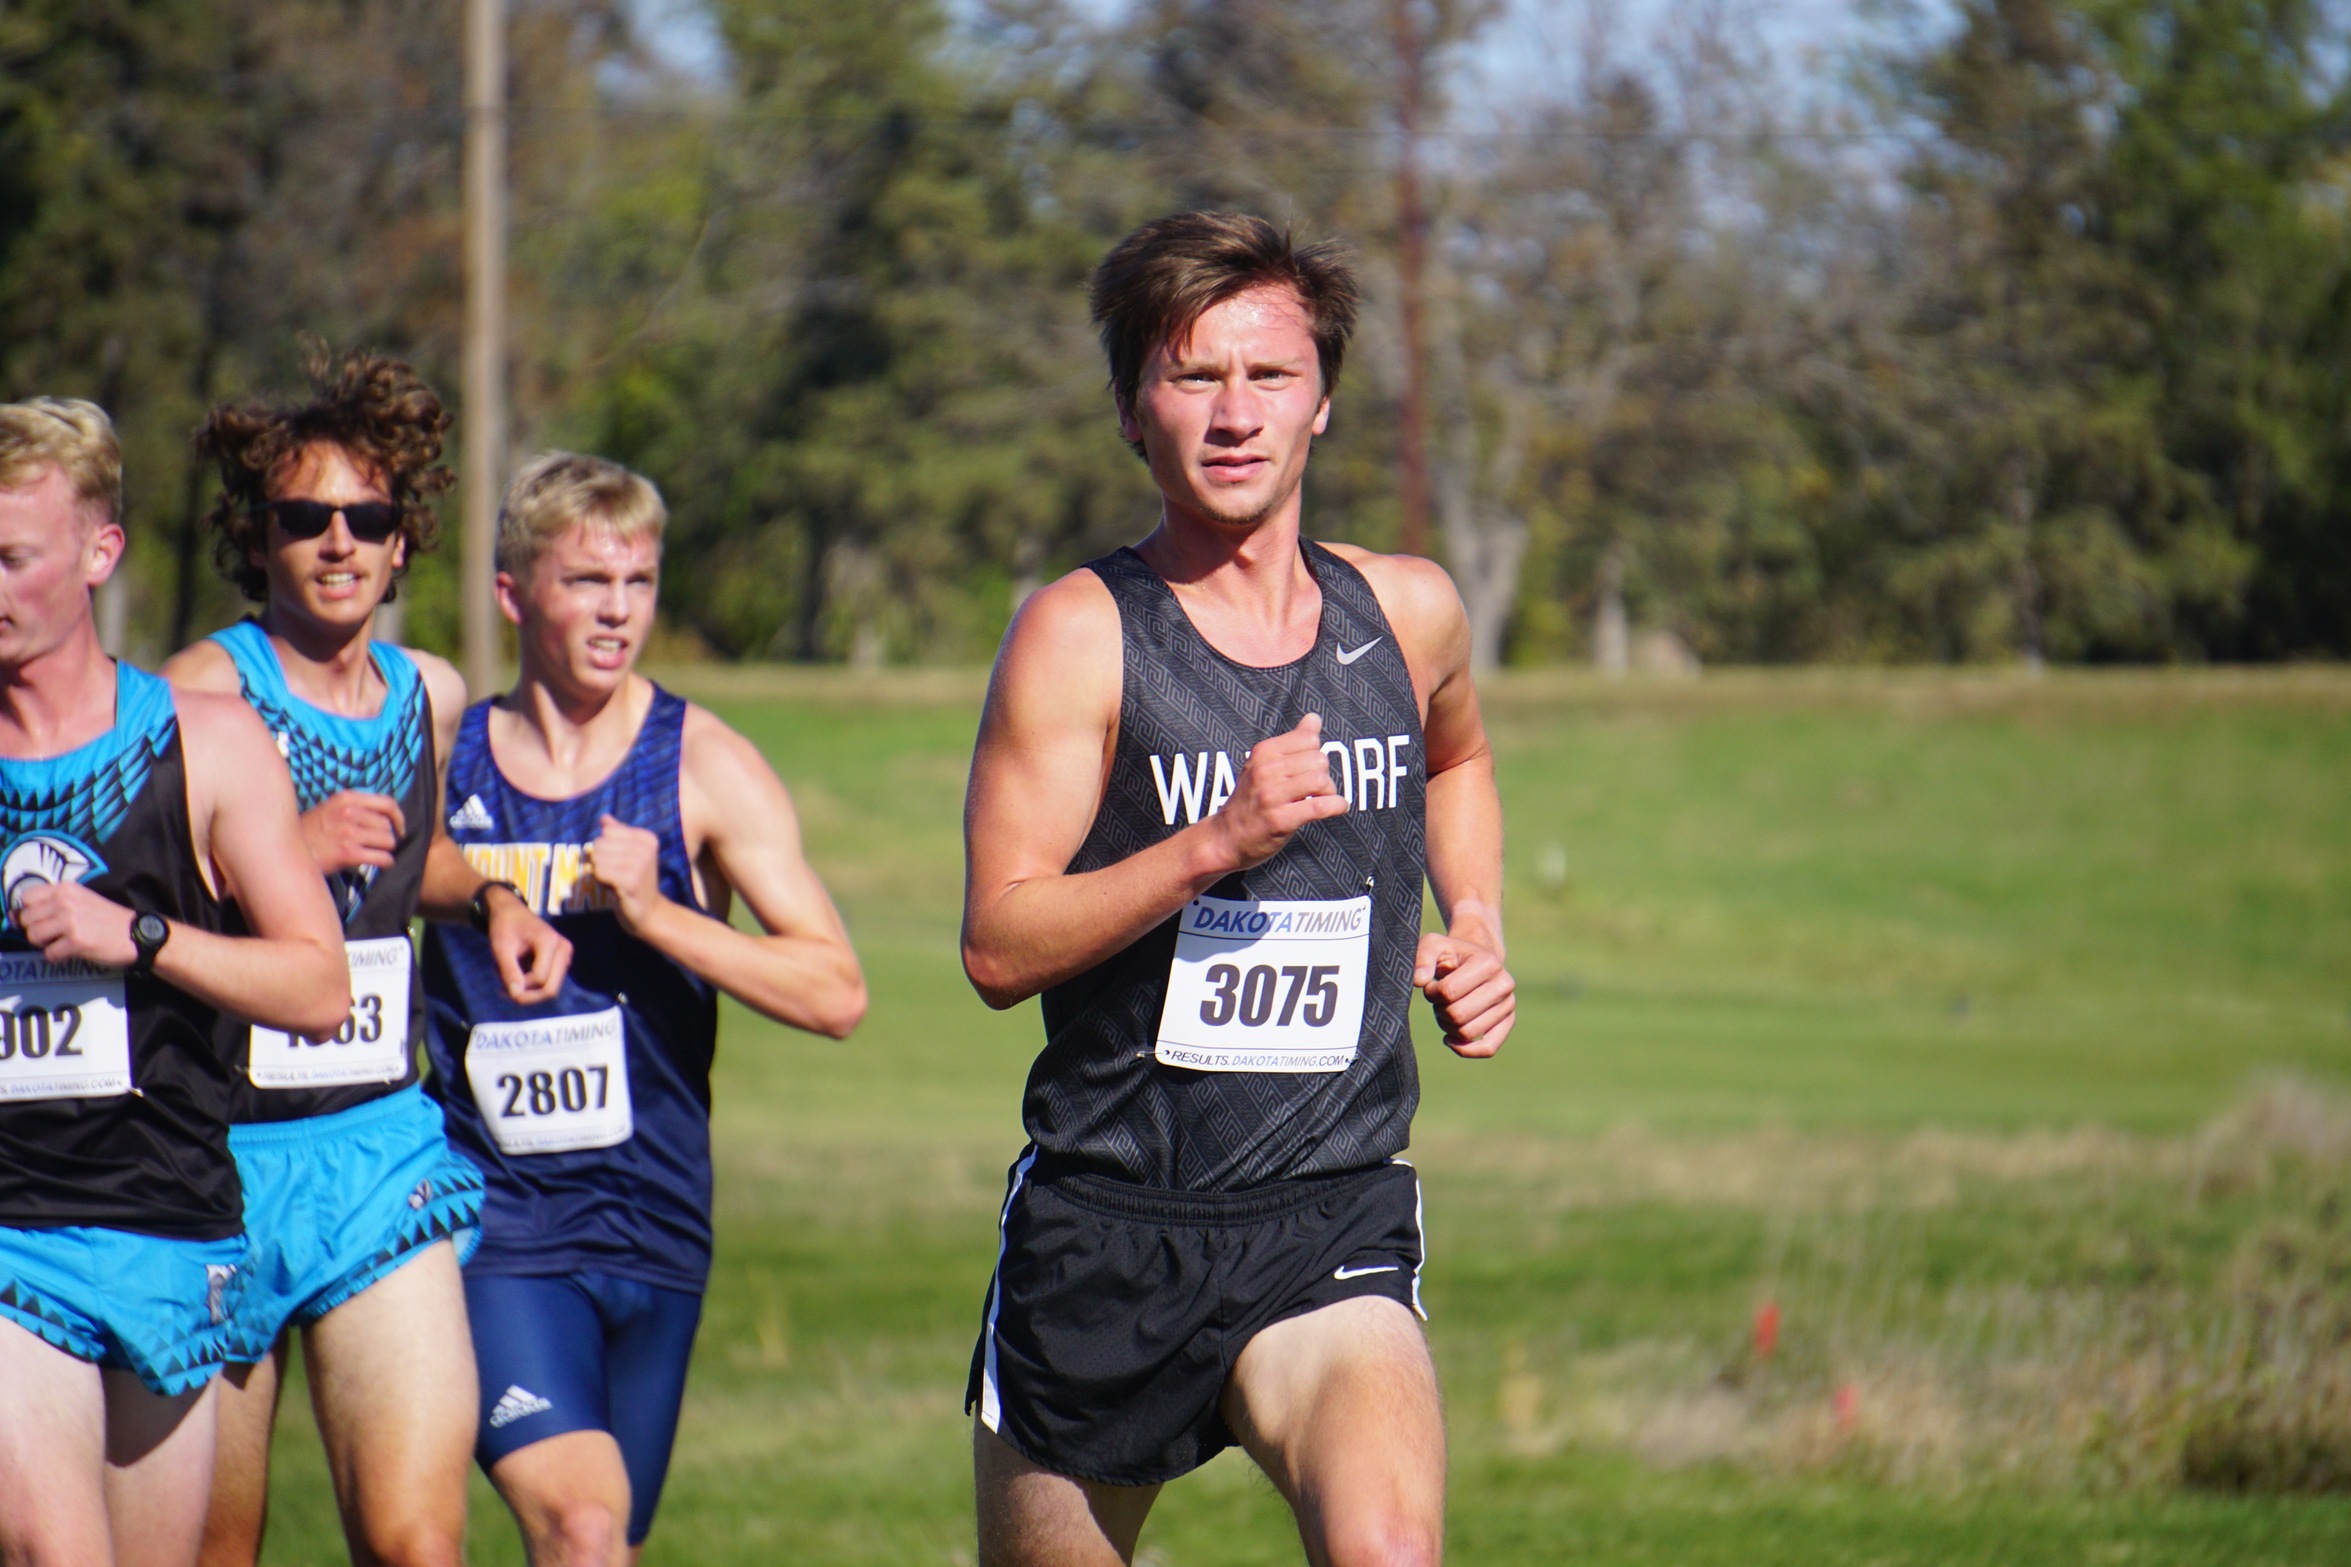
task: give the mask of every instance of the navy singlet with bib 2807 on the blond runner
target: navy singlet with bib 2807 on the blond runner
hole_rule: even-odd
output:
[[[571,940],[552,1001],[520,1008],[489,940],[426,933],[426,1048],[449,1144],[482,1165],[468,1273],[616,1273],[672,1290],[710,1276],[710,1057],[717,989],[621,930],[585,848],[604,815],[661,836],[661,893],[701,909],[677,820],[686,705],[654,688],[628,756],[595,789],[538,799],[489,754],[489,702],[449,754],[449,834]]]

